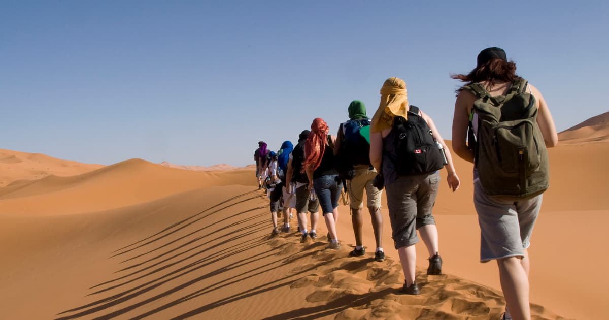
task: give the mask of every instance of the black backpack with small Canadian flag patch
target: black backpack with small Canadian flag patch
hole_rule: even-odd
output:
[[[419,108],[410,105],[408,119],[393,119],[393,162],[400,176],[414,176],[434,172],[444,167],[444,159],[435,143],[428,124],[418,114]]]

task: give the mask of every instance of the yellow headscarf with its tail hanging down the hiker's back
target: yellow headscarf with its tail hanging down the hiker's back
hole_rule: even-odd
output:
[[[381,103],[372,117],[371,132],[381,132],[389,129],[395,116],[406,117],[408,112],[408,96],[406,82],[400,78],[391,77],[385,80],[381,88]]]

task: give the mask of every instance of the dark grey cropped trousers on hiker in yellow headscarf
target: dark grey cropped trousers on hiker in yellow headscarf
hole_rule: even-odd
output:
[[[440,174],[434,172],[401,176],[385,187],[395,249],[417,243],[417,229],[435,224],[431,212],[439,183]]]

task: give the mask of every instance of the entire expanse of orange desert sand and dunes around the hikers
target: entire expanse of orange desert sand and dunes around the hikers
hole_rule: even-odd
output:
[[[607,318],[607,118],[561,132],[549,150],[551,188],[529,249],[533,319]],[[369,224],[368,254],[348,257],[346,206],[338,251],[326,249],[323,221],[316,241],[301,244],[295,230],[270,237],[252,168],[99,166],[0,150],[1,318],[498,319],[496,265],[478,262],[472,166],[456,166],[462,187],[443,185],[435,205],[445,274],[426,276],[417,244],[421,294],[404,296],[385,205],[379,263]]]

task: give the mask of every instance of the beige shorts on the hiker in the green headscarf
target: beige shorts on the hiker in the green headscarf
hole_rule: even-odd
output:
[[[367,207],[381,207],[382,191],[372,185],[376,174],[376,169],[370,170],[369,166],[355,166],[355,176],[353,179],[347,180],[352,209],[364,207],[364,190],[366,191]]]

